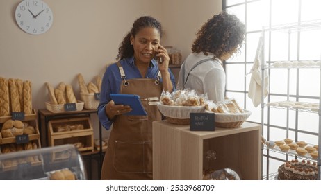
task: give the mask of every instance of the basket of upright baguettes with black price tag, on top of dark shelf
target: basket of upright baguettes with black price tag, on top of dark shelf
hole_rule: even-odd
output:
[[[45,102],[45,105],[46,109],[50,112],[65,112],[66,103],[75,103],[76,111],[83,110],[84,103],[76,100],[72,85],[66,85],[64,82],[60,82],[58,87],[53,88],[49,82],[46,82],[46,86],[49,92],[50,102]]]

